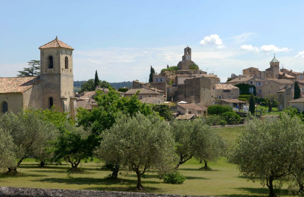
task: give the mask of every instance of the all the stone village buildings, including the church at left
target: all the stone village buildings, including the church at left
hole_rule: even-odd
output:
[[[50,109],[53,105],[61,111],[75,116],[76,109],[92,110],[98,107],[95,91],[73,94],[73,50],[66,43],[50,41],[39,47],[41,74],[33,77],[0,78],[1,112],[12,110],[17,113],[30,107]],[[207,107],[220,104],[229,105],[235,111],[248,109],[248,101],[240,95],[253,93],[259,98],[277,95],[278,110],[294,106],[303,111],[304,72],[280,69],[276,57],[270,61],[265,71],[249,67],[243,74],[231,74],[231,78],[221,83],[216,74],[199,69],[192,61],[191,48],[184,49],[184,55],[177,66],[167,67],[161,73],[151,73],[149,82],[134,80],[133,86],[124,88],[120,96],[137,94],[141,102],[166,104],[171,106],[175,118],[192,119],[207,114]],[[300,87],[301,98],[294,99],[295,82]],[[103,93],[109,89],[97,86]]]

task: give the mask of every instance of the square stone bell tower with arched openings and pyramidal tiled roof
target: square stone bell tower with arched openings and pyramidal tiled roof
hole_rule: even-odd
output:
[[[43,89],[43,109],[52,106],[73,115],[73,48],[55,40],[39,47],[40,79]]]

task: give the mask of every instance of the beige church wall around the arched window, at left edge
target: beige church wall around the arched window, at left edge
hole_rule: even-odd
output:
[[[2,112],[2,103],[7,102],[8,110],[13,113],[18,113],[23,109],[23,95],[22,93],[7,93],[0,94],[0,108]]]

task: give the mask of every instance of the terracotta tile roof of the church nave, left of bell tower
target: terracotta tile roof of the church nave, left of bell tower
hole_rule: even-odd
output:
[[[0,78],[0,93],[22,93],[41,81],[40,77],[37,76]]]

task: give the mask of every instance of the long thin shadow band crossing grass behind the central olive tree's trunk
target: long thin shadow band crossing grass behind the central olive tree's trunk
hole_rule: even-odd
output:
[[[76,184],[76,185],[129,185],[135,184],[136,180],[130,179],[108,179],[108,178],[85,178],[85,177],[76,177],[76,178],[42,178],[35,180],[38,182],[49,182],[49,183],[64,183],[64,184]],[[146,181],[142,180],[142,184],[159,184],[161,182],[157,181]]]

